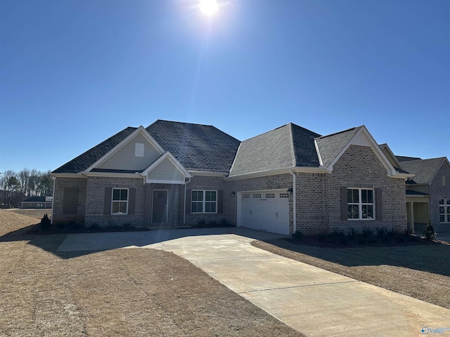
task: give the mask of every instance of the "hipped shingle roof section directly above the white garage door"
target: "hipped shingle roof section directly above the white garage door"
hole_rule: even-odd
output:
[[[314,145],[314,138],[318,136],[290,123],[244,140],[236,154],[230,176],[290,169],[294,166],[319,167]]]

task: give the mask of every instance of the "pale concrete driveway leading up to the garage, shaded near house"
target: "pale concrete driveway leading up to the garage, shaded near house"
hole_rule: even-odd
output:
[[[58,251],[171,251],[307,336],[423,336],[439,328],[450,336],[450,310],[250,244],[276,237],[243,228],[69,234]]]

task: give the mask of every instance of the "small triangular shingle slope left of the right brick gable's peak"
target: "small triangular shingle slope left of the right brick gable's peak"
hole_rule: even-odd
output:
[[[362,128],[349,128],[348,130],[333,133],[328,136],[319,137],[316,139],[319,153],[321,154],[322,164],[328,167],[333,160],[338,157],[338,154],[344,149],[356,133]]]

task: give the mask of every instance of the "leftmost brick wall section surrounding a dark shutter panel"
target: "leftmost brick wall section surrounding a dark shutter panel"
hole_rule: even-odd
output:
[[[86,208],[86,178],[62,178],[58,177],[55,181],[53,190],[53,213],[52,223],[84,223],[84,211]],[[77,214],[63,214],[64,189],[78,188]]]

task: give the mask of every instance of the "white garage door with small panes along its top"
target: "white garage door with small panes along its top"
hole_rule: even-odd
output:
[[[238,226],[289,235],[289,194],[286,190],[240,192]]]

